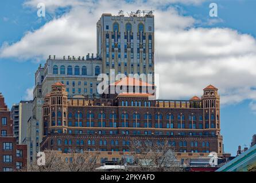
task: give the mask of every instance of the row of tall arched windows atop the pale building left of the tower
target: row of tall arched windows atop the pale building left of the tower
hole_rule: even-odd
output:
[[[53,66],[52,73],[53,74],[59,74],[59,67],[57,65]],[[64,65],[60,66],[60,74],[65,74],[65,66]],[[73,75],[73,67],[72,66],[67,67],[67,74],[68,75]],[[100,74],[100,67],[95,66],[95,75],[99,75],[99,74]],[[75,66],[74,75],[80,75],[80,67],[79,66]],[[87,67],[86,66],[82,67],[81,75],[87,75]]]

